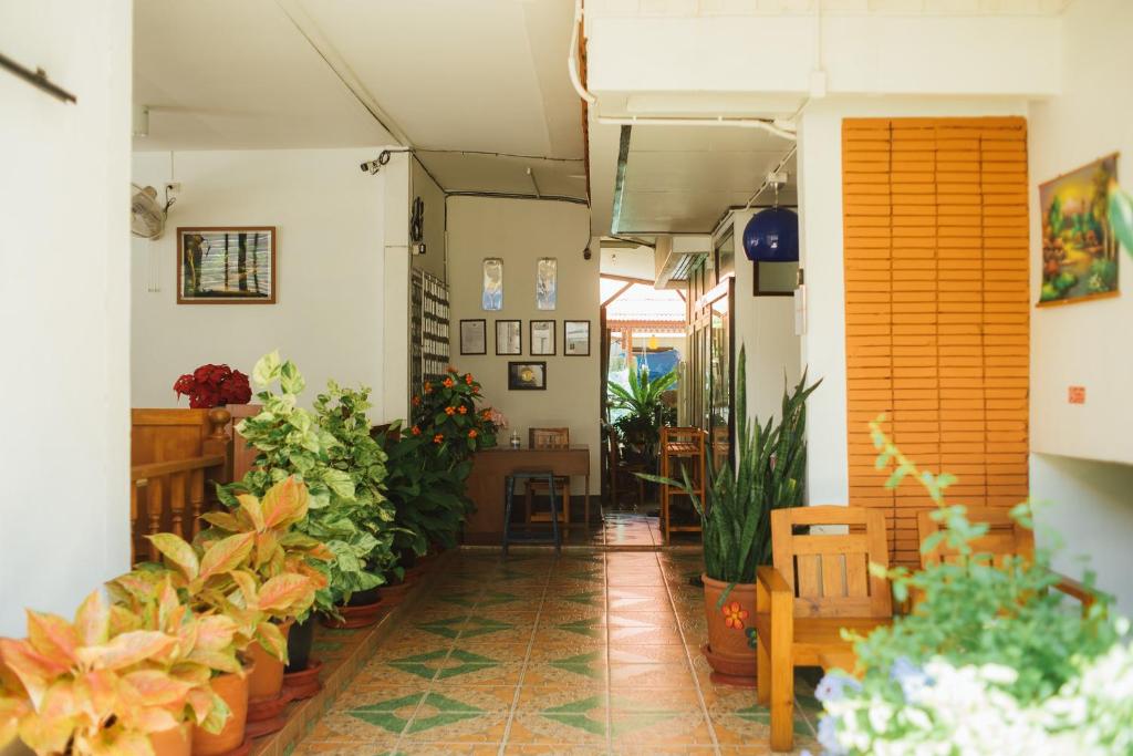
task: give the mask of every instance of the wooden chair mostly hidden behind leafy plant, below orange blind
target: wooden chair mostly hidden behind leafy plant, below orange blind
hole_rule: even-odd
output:
[[[988,532],[971,545],[976,553],[990,554],[994,566],[1002,566],[1008,557],[1022,557],[1026,560],[1034,558],[1034,532],[1012,519],[1010,510],[996,507],[968,507],[966,517],[971,523],[988,524]],[[917,513],[917,537],[921,543],[940,528],[942,524],[932,519],[932,510]],[[957,557],[956,551],[942,541],[932,551],[921,553],[921,567],[954,562]],[[1065,575],[1055,574],[1055,577],[1058,581],[1054,588],[1082,602],[1082,613],[1088,612],[1097,600],[1094,594],[1083,584]]]

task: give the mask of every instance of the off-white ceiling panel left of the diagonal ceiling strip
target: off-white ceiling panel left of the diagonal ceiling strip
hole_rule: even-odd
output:
[[[392,142],[273,0],[136,0],[134,102],[139,151]]]

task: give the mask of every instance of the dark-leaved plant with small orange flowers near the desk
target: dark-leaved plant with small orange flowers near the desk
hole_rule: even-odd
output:
[[[477,449],[496,444],[492,410],[477,408],[483,399],[472,374],[450,365],[444,379],[426,381],[421,393],[414,397],[414,425],[409,432],[432,439],[428,445],[437,456],[448,456],[452,462],[467,459]]]

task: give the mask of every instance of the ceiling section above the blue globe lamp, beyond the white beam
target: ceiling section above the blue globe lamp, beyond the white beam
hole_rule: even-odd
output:
[[[621,189],[615,182],[616,233],[709,233],[729,207],[742,207],[794,143],[761,129],[716,126],[636,126]],[[780,202],[796,202],[795,159]],[[620,210],[619,210],[620,195]],[[767,189],[756,204],[774,201]]]

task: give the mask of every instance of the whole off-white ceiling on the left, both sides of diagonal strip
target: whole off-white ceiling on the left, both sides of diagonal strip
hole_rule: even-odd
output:
[[[572,14],[571,0],[136,0],[134,100],[151,113],[134,147],[403,136],[446,190],[585,197]]]

